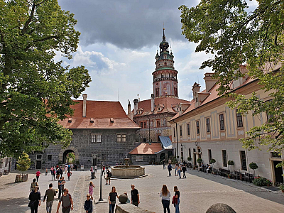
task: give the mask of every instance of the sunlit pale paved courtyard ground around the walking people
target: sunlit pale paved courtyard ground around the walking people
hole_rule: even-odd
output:
[[[28,173],[35,173],[29,170]],[[180,212],[206,212],[215,203],[222,202],[229,204],[236,212],[284,212],[284,193],[272,192],[261,187],[256,187],[245,182],[220,178],[219,176],[204,174],[196,170],[187,170],[187,178],[178,179],[175,176],[168,177],[168,170],[163,170],[162,165],[147,165],[145,178],[128,180],[111,180],[111,185],[102,182],[102,198],[107,200],[111,186],[116,186],[118,194],[127,192],[130,194],[131,184],[134,184],[139,191],[141,204],[139,207],[153,212],[163,212],[162,203],[158,193],[163,184],[173,194],[173,187],[178,186],[180,190]],[[16,174],[4,175],[0,178],[0,212],[31,212],[28,205],[29,188],[31,180],[35,177],[29,174],[28,182],[12,183]],[[65,175],[67,179],[67,175]],[[84,212],[83,205],[85,195],[88,192],[90,172],[74,171],[72,178],[65,184],[73,197],[75,209],[72,212]],[[53,182],[52,176],[48,173],[40,175],[38,184],[43,197],[48,184]],[[99,175],[93,180],[94,197],[99,199]],[[53,212],[56,212],[58,200],[53,203]],[[108,212],[109,205],[100,203],[94,205],[94,212]],[[170,204],[171,212],[175,212],[173,204]],[[38,212],[45,212],[45,203],[42,202]]]

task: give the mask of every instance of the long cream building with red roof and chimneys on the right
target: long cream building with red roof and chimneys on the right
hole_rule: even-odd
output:
[[[245,66],[240,69],[246,74]],[[242,147],[240,138],[246,137],[246,132],[253,126],[261,126],[268,122],[268,114],[261,113],[256,116],[252,111],[242,116],[238,109],[231,109],[226,105],[229,99],[219,97],[216,80],[212,79],[213,73],[205,73],[206,89],[200,92],[200,85],[195,83],[192,87],[193,99],[190,107],[180,111],[170,120],[173,134],[173,148],[175,154],[187,160],[192,158],[192,164],[197,165],[197,158],[202,158],[204,164],[209,164],[214,158],[215,168],[238,170],[242,173],[253,173],[249,164],[258,165],[256,175],[261,175],[275,182],[283,182],[283,168],[275,165],[284,160],[283,153],[268,151],[268,147],[261,146],[260,150],[248,151]],[[248,75],[240,77],[233,82],[231,87],[236,94],[250,97],[253,92],[264,102],[273,97],[270,92],[260,89],[258,80]],[[234,165],[228,165],[233,160]]]

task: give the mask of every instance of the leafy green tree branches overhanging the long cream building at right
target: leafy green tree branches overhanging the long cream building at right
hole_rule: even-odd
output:
[[[196,52],[212,54],[201,69],[212,67],[219,82],[219,95],[233,97],[229,107],[238,107],[243,115],[266,112],[271,119],[249,130],[241,141],[252,150],[268,145],[268,150],[282,151],[284,146],[284,1],[257,0],[251,9],[246,0],[200,1],[189,9],[180,6],[182,34],[197,43]],[[264,102],[255,93],[252,97],[234,94],[231,82],[246,73],[258,79],[261,89],[272,97]]]

